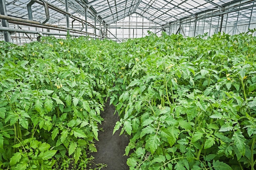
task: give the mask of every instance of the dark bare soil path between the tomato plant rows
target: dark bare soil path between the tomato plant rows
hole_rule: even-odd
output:
[[[104,121],[99,125],[99,141],[95,142],[97,152],[92,153],[94,159],[94,165],[92,168],[96,168],[95,164],[106,163],[108,166],[101,170],[129,170],[126,164],[127,156],[125,154],[125,148],[129,144],[129,138],[120,134],[120,129],[113,134],[113,129],[117,121],[119,121],[118,114],[115,113],[115,106],[109,105],[108,102],[105,105],[101,117]]]

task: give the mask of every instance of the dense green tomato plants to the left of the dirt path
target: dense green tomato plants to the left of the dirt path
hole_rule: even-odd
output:
[[[67,157],[86,168],[115,78],[103,69],[109,56],[95,52],[101,43],[115,46],[52,37],[24,46],[0,43],[0,168],[48,170]]]

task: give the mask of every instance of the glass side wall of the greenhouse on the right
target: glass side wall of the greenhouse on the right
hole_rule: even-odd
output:
[[[167,33],[169,35],[181,33],[185,36],[193,37],[204,35],[205,33],[211,36],[221,31],[234,35],[256,28],[256,3],[237,4],[237,6],[227,7],[222,15],[209,15],[209,12],[205,12],[196,17],[185,18],[166,26]],[[255,32],[254,35],[256,35]]]

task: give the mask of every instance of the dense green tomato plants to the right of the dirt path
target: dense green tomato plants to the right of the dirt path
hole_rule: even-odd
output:
[[[218,33],[121,44],[125,70],[110,98],[114,132],[131,136],[131,170],[254,170],[255,43]]]

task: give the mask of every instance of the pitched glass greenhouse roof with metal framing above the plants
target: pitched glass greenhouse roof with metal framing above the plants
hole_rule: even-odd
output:
[[[43,0],[40,0],[43,1]],[[30,0],[5,0],[8,15],[28,19],[27,4]],[[47,2],[65,10],[65,0],[47,0]],[[195,17],[209,9],[222,9],[238,0],[68,0],[69,13],[85,15],[104,24],[113,24],[134,13],[155,24],[166,25],[186,17]],[[32,6],[33,20],[41,21],[45,17],[43,5],[35,3]],[[49,9],[48,23],[63,20],[65,15]]]

